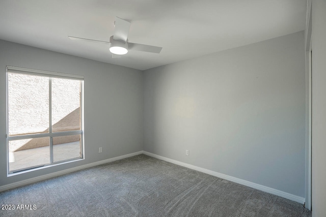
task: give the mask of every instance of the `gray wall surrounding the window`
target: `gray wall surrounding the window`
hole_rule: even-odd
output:
[[[7,65],[85,76],[84,161],[7,177]],[[142,90],[142,71],[0,40],[0,186],[143,150]]]

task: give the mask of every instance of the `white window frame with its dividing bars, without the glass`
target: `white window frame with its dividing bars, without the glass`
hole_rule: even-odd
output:
[[[48,133],[32,133],[32,134],[24,134],[24,135],[13,135],[9,136],[9,89],[8,89],[8,73],[17,73],[17,74],[25,74],[25,75],[36,75],[43,76],[49,78],[49,132]],[[60,132],[52,132],[52,78],[62,78],[62,79],[72,79],[80,81],[80,130],[70,130],[70,131],[60,131]],[[65,74],[59,72],[50,72],[44,70],[36,70],[36,69],[26,69],[21,67],[7,66],[6,68],[6,138],[7,138],[7,176],[17,175],[25,172],[30,172],[34,170],[39,170],[43,168],[48,168],[60,164],[66,164],[70,162],[85,160],[85,139],[84,139],[84,76],[81,75],[73,75],[73,74]],[[70,136],[70,135],[80,135],[80,156],[72,159],[67,159],[63,161],[53,162],[53,137],[59,136]],[[49,163],[44,165],[35,166],[32,168],[23,168],[17,171],[10,171],[9,168],[9,141],[21,140],[21,139],[34,139],[41,137],[49,137],[49,152],[50,158]]]

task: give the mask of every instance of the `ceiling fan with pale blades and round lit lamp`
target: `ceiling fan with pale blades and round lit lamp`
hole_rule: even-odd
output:
[[[93,39],[77,38],[72,36],[68,36],[68,38],[71,40],[80,40],[80,41],[107,44],[110,46],[109,50],[112,53],[113,58],[121,57],[121,55],[126,54],[128,50],[137,50],[137,51],[144,51],[150,53],[161,52],[162,49],[161,47],[128,42],[128,33],[129,33],[130,24],[131,24],[130,22],[123,20],[119,17],[116,17],[114,33],[113,36],[110,37],[109,42],[98,41]]]

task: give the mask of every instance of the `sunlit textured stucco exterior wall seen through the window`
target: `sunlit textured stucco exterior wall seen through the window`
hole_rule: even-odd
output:
[[[80,82],[52,78],[52,132],[80,129]],[[8,73],[9,135],[49,132],[49,79]],[[57,139],[53,144],[79,140],[79,135]],[[10,151],[49,145],[49,138],[16,140]]]

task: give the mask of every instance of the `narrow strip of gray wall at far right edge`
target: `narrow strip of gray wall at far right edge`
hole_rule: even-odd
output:
[[[326,216],[326,1],[312,3],[312,215]]]

